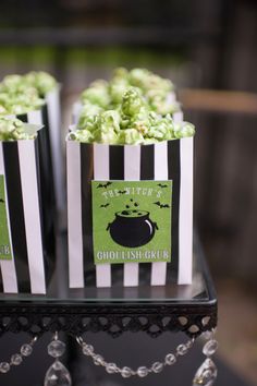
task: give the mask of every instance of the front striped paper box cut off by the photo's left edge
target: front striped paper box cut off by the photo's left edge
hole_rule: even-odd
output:
[[[42,218],[48,210],[39,150],[45,131],[35,140],[0,142],[0,291],[7,293],[46,293],[52,245]]]

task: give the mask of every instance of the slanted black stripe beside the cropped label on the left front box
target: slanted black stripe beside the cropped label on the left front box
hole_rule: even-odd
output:
[[[19,290],[30,292],[17,143],[4,142],[2,147]]]

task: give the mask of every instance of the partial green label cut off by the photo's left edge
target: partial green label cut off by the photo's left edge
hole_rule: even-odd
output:
[[[4,177],[0,176],[0,260],[11,260],[11,243],[8,229]]]

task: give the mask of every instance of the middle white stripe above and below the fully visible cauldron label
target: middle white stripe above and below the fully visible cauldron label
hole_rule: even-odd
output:
[[[138,181],[140,179],[140,146],[124,146],[124,180]],[[137,287],[139,282],[139,264],[124,264],[124,287]]]

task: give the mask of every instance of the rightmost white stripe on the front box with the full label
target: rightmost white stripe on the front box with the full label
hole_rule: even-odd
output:
[[[192,282],[193,263],[193,137],[181,140],[179,220],[179,284]]]

